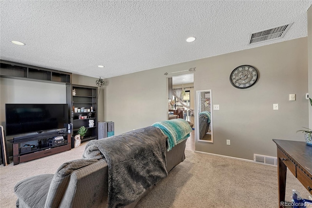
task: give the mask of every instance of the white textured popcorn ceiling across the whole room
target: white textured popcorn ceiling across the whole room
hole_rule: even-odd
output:
[[[1,0],[0,59],[109,78],[306,37],[311,4]],[[248,45],[251,33],[291,22],[283,39]]]

